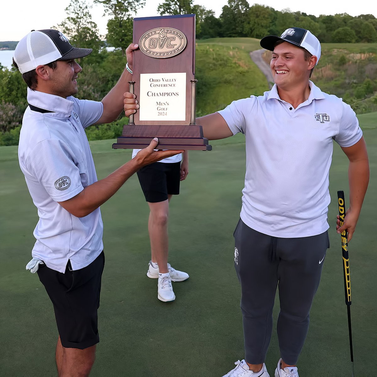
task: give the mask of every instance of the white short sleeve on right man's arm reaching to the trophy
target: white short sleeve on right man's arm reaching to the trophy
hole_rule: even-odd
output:
[[[255,103],[256,97],[251,96],[250,98],[233,101],[224,110],[218,111],[225,122],[227,122],[233,135],[236,135],[238,132],[246,132],[246,118],[250,117],[252,119],[251,112],[254,109]]]

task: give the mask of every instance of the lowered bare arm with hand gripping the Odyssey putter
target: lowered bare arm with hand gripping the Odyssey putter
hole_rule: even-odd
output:
[[[369,162],[363,137],[351,147],[342,147],[342,150],[349,159],[349,208],[346,211],[342,227],[340,227],[339,215],[337,216],[336,230],[338,233],[342,233],[343,230],[347,229],[348,241],[351,241],[368,187]]]

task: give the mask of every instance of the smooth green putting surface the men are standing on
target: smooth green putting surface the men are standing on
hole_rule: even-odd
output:
[[[362,126],[363,119],[360,117]],[[374,376],[377,342],[377,132],[367,126],[364,135],[371,183],[349,255],[355,373],[368,377]],[[90,143],[100,179],[131,157],[130,150],[112,150],[112,142]],[[232,238],[241,208],[244,137],[236,135],[211,144],[211,152],[190,152],[190,174],[170,206],[169,259],[190,274],[187,281],[174,283],[175,302],[160,302],[156,280],[146,277],[148,208],[136,176],[102,206],[106,267],[99,309],[101,342],[92,376],[218,377],[244,357]],[[0,174],[0,374],[52,376],[57,330],[43,286],[36,275],[25,271],[37,211],[18,167],[17,147],[0,148]],[[330,182],[331,248],[299,363],[300,375],[307,377],[350,375],[342,257],[334,230],[337,190],[345,190],[348,198],[347,159],[336,144]],[[277,311],[278,303],[275,319]],[[274,331],[266,360],[271,375],[278,358]]]

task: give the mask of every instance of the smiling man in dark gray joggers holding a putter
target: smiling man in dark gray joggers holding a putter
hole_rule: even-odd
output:
[[[348,239],[368,186],[368,155],[351,107],[309,80],[321,55],[319,40],[308,30],[289,28],[280,37],[262,38],[261,46],[273,52],[273,88],[198,118],[208,139],[238,132],[246,138],[245,187],[234,231],[245,358],[225,376],[269,376],[264,362],[279,285],[280,359],[275,377],[298,377],[297,361],[329,248],[333,140],[349,159],[350,206],[344,225],[337,226],[338,233],[348,230]],[[138,107],[135,96],[125,93],[126,115]]]

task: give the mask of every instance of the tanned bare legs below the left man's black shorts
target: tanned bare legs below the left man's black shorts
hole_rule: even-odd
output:
[[[96,346],[85,349],[65,348],[60,337],[56,348],[56,364],[59,377],[87,377],[95,360]]]

